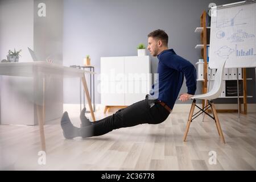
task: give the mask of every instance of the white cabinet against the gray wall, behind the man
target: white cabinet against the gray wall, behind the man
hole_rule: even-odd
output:
[[[129,106],[151,89],[150,57],[101,57],[101,104]]]

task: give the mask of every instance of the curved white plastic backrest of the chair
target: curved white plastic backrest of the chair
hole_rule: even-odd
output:
[[[214,84],[212,87],[212,90],[208,93],[208,96],[211,95],[212,99],[220,97],[220,94],[222,92],[222,80],[224,76],[224,68],[225,68],[225,63],[226,60],[224,60],[221,64],[220,67],[217,68],[217,72],[214,78]]]

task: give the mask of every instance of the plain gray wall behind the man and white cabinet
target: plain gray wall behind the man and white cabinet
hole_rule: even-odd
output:
[[[200,15],[208,8],[207,1],[174,0],[64,0],[64,65],[81,65],[86,55],[100,73],[101,56],[137,55],[138,43],[147,44],[147,34],[161,28],[169,35],[169,48],[193,64],[200,57],[195,45],[200,43]],[[217,5],[237,1],[214,1]],[[156,73],[158,60],[151,57],[151,70]],[[255,77],[251,69],[250,77]],[[96,76],[97,80],[97,76]],[[255,78],[254,78],[255,80]],[[96,81],[96,88],[97,88]],[[248,94],[255,96],[255,81],[250,81]],[[64,103],[79,103],[79,81],[64,82]],[[67,92],[67,88],[69,88]],[[70,90],[70,88],[72,88]],[[185,82],[181,92],[187,92]],[[201,82],[197,93],[201,92]],[[218,101],[221,102],[221,101]],[[222,102],[236,103],[236,99]],[[255,103],[255,97],[248,100]],[[96,93],[96,103],[100,94]],[[177,102],[180,103],[180,102]]]

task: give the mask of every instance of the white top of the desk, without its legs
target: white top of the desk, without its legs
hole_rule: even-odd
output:
[[[37,62],[0,63],[0,75],[33,77],[35,75],[56,75],[63,77],[83,77],[84,73],[93,73],[63,65]]]

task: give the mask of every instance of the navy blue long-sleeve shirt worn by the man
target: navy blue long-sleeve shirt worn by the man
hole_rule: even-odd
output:
[[[196,68],[188,60],[167,49],[158,55],[158,81],[152,86],[150,95],[165,102],[173,109],[183,84],[184,76],[188,94],[196,92]]]

